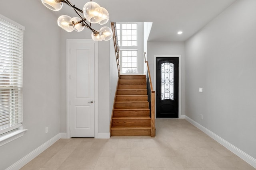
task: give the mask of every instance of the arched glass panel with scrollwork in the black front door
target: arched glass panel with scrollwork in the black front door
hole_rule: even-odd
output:
[[[161,100],[174,100],[174,64],[161,64]]]

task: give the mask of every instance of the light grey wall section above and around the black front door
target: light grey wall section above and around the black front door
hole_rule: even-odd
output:
[[[181,114],[185,113],[185,43],[170,41],[148,42],[148,65],[152,83],[154,84],[154,55],[181,55]],[[154,89],[155,90],[155,89]]]

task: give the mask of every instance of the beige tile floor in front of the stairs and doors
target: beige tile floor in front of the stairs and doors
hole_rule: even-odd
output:
[[[60,139],[21,170],[255,170],[185,119],[156,119],[156,137]]]

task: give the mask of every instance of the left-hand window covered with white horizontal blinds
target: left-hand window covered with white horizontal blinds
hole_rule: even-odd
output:
[[[22,126],[23,31],[0,15],[0,135]]]

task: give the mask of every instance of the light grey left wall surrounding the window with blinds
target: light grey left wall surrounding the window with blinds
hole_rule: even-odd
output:
[[[0,147],[4,170],[59,133],[60,28],[40,1],[1,1],[0,14],[25,26],[23,126],[28,129]]]

